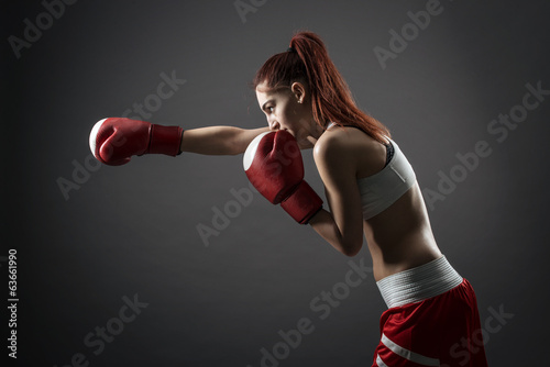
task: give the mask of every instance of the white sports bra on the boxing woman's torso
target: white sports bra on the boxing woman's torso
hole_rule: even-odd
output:
[[[331,127],[333,124],[329,124]],[[378,173],[358,179],[363,219],[380,214],[397,201],[416,182],[416,175],[399,146],[388,138],[393,156],[388,155],[386,166]],[[391,148],[387,146],[386,148]]]

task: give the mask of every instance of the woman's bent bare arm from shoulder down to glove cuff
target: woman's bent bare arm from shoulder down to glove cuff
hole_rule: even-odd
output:
[[[323,136],[314,148],[330,212],[320,210],[309,224],[336,249],[354,256],[363,245],[363,215],[356,158],[345,143],[341,136]]]

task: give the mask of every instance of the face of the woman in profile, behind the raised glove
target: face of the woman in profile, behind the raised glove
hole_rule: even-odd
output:
[[[276,90],[262,84],[256,87],[256,97],[271,130],[286,130],[302,148],[311,147],[311,137],[320,136],[322,129],[314,120],[310,99],[301,84]]]

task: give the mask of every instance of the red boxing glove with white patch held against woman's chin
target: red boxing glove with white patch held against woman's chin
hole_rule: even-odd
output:
[[[244,171],[267,200],[280,203],[300,224],[307,224],[321,208],[322,200],[304,181],[304,163],[298,143],[286,131],[257,135],[244,152]]]

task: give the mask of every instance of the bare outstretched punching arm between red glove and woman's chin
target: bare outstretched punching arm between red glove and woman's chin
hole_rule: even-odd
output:
[[[240,129],[207,126],[184,131],[180,152],[206,155],[237,155],[244,153],[250,142],[270,127]]]

